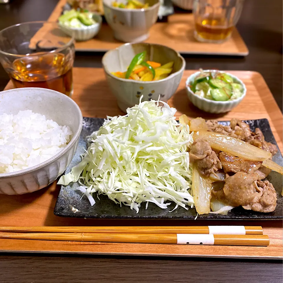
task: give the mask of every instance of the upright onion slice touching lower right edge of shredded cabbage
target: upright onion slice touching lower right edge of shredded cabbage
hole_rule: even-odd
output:
[[[199,214],[210,212],[212,185],[208,178],[203,178],[195,164],[192,167],[192,192],[195,202],[195,209]]]

